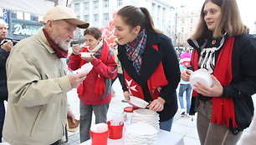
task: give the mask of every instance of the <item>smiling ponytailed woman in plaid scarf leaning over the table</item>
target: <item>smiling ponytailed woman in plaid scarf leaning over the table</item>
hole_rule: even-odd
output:
[[[119,42],[118,58],[124,70],[125,99],[130,104],[130,96],[150,102],[147,107],[160,114],[160,128],[171,131],[180,81],[171,39],[154,28],[145,7],[121,8],[115,15],[114,25]]]

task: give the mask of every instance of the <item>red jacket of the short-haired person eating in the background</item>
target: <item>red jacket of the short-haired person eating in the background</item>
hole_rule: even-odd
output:
[[[77,90],[80,100],[82,100],[82,102],[87,105],[100,105],[100,104],[109,103],[111,101],[111,80],[110,79],[113,79],[116,77],[117,66],[115,62],[114,53],[112,50],[110,50],[106,42],[104,42],[103,47],[107,47],[109,49],[107,62],[104,63],[100,60],[100,57],[96,57],[95,60],[91,62],[91,64],[94,67],[87,74],[83,84],[81,84],[81,85],[84,85],[84,87],[80,85],[80,87],[78,87],[78,90]],[[87,52],[87,48],[84,47],[80,52]],[[71,54],[69,57],[69,67],[72,70],[79,69],[85,63],[87,62],[84,61],[80,57],[80,55]],[[96,86],[96,82],[99,74],[100,76],[105,77],[105,93],[102,95],[95,93],[95,86]]]

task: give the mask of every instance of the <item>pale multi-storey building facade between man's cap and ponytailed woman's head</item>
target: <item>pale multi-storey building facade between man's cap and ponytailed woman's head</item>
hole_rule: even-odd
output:
[[[171,36],[172,6],[161,0],[74,0],[69,7],[74,9],[77,17],[90,23],[90,27],[102,28],[108,26],[115,13],[121,7],[134,5],[146,7],[155,23],[155,27]],[[83,39],[83,30],[75,32],[74,40]]]

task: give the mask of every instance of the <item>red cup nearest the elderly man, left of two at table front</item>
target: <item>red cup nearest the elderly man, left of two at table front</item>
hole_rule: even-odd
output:
[[[108,131],[103,133],[94,133],[90,131],[90,137],[92,145],[107,145],[108,143]]]

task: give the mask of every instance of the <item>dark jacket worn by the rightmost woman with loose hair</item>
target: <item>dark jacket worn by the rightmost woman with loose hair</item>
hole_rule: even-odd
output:
[[[228,35],[224,37],[225,40],[228,39]],[[199,47],[191,39],[188,39],[187,42],[200,53],[199,47],[202,46],[205,39],[197,39]],[[216,53],[216,61],[219,52]],[[248,33],[236,36],[232,52],[233,79],[229,85],[223,86],[223,97],[231,97],[233,100],[235,119],[238,124],[238,128],[230,127],[234,134],[248,128],[253,119],[254,107],[251,96],[256,93],[256,66],[254,62],[256,62],[256,37]],[[191,113],[196,112],[194,110],[196,107],[197,104],[192,103]]]

